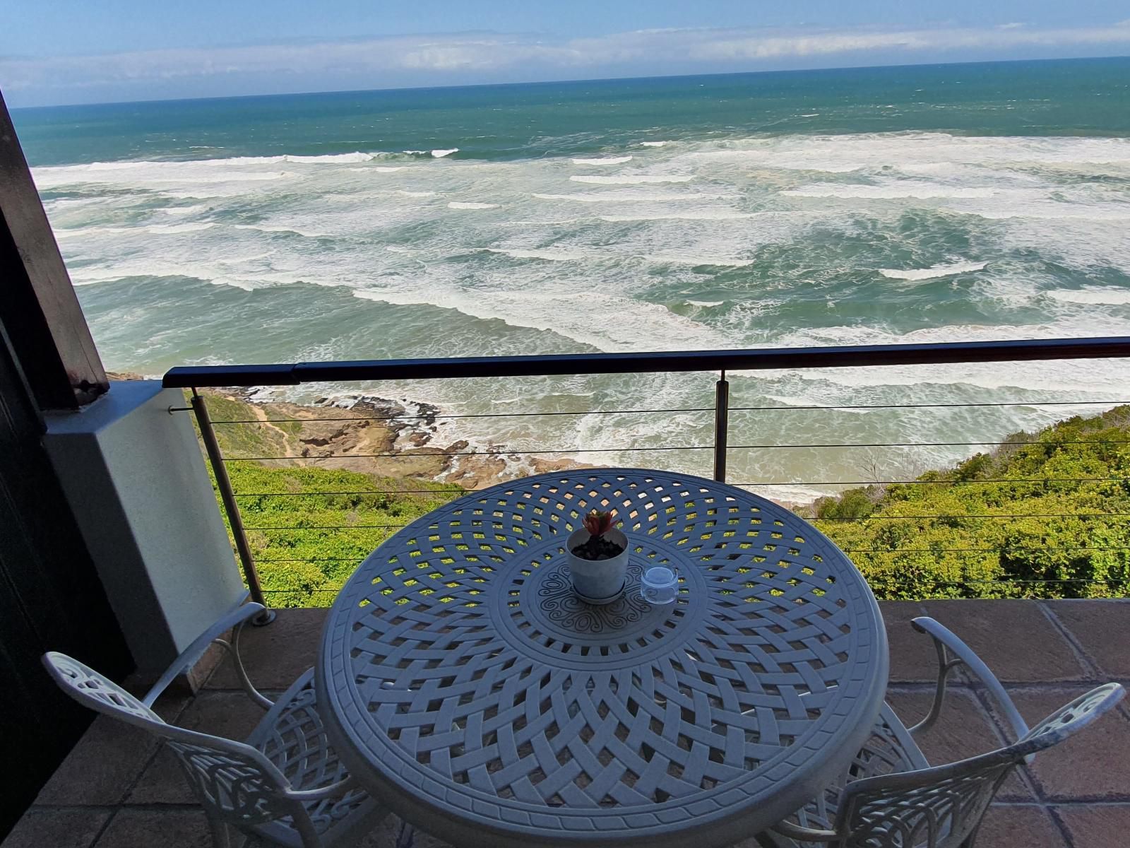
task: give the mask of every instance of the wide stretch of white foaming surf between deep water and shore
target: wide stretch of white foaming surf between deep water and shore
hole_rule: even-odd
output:
[[[477,159],[462,144],[458,156],[452,146],[123,161],[34,176],[114,367],[159,371],[199,356],[200,327],[209,355],[232,362],[348,358],[359,348],[473,356],[1130,335],[1128,139],[626,137],[581,148],[591,157],[531,148],[505,162]],[[626,170],[624,156],[596,155],[623,149],[633,152]],[[915,285],[928,280],[944,282]],[[247,320],[262,330],[249,332]],[[899,405],[1116,397],[1123,382],[1118,363],[1098,361],[758,372],[734,375],[732,391],[749,406]],[[712,391],[710,375],[582,374],[523,384],[513,408],[644,396],[698,408]],[[460,412],[510,408],[497,384],[438,382],[428,392],[419,399]],[[843,440],[870,442],[899,441],[907,427],[933,441],[989,438],[1050,413],[852,415],[867,425],[843,424]],[[579,419],[565,433],[528,419],[527,430],[475,426],[506,444],[710,438],[706,417],[638,417]],[[780,424],[733,426],[747,427],[742,443],[763,443]],[[784,461],[780,452],[755,453],[732,459],[747,479],[810,479],[855,461],[808,456],[782,469],[765,465]]]

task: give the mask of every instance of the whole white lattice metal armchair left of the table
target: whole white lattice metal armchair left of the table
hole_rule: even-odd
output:
[[[386,811],[356,786],[330,745],[318,715],[313,668],[275,702],[251,685],[240,659],[240,631],[262,609],[259,604],[246,604],[218,621],[176,658],[141,700],[63,654],[45,654],[43,664],[75,700],[165,741],[208,815],[216,848],[228,848],[228,824],[288,848],[353,845]],[[233,628],[231,642],[220,638]],[[169,683],[212,642],[232,655],[247,695],[267,711],[246,742],[166,724],[151,709]]]

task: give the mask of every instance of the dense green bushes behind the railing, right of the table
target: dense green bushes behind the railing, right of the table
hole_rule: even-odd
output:
[[[913,484],[824,499],[808,517],[879,598],[1130,594],[1130,407],[1003,441]]]

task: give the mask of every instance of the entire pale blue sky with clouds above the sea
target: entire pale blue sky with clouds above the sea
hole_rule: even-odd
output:
[[[1127,0],[0,0],[9,106],[1130,54]]]

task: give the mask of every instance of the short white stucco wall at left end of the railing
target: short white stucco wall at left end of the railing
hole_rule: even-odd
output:
[[[191,413],[175,389],[113,382],[47,416],[44,445],[141,672],[163,670],[245,594]]]

